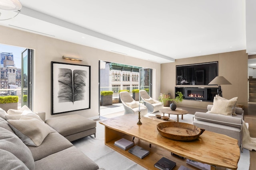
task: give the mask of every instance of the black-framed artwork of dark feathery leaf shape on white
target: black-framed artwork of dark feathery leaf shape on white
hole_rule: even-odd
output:
[[[51,114],[90,109],[91,66],[51,62]]]

